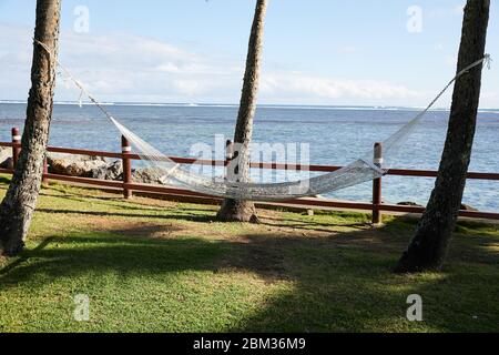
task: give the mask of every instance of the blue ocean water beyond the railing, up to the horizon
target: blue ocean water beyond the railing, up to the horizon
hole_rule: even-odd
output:
[[[123,124],[163,153],[191,156],[200,144],[214,145],[215,135],[233,136],[237,106],[192,104],[112,104],[106,109]],[[309,144],[312,164],[344,165],[373,149],[419,109],[263,105],[254,122],[259,143]],[[499,172],[499,110],[481,110],[470,171]],[[438,169],[447,130],[448,111],[429,112],[400,150],[391,168]],[[24,103],[0,103],[0,141],[10,141],[10,129],[22,128]],[[92,105],[55,104],[50,144],[120,151],[120,134]],[[222,152],[220,152],[222,154]],[[214,159],[222,159],[223,154]],[[281,175],[279,175],[281,174]],[[293,179],[284,173],[268,181]],[[299,176],[296,175],[296,179]],[[265,179],[265,176],[264,176]],[[384,201],[426,204],[432,179],[386,176]],[[371,184],[360,184],[328,196],[370,201]],[[468,181],[464,202],[483,211],[499,211],[499,182]]]

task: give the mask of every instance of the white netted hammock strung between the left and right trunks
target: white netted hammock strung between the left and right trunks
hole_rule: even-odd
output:
[[[44,43],[37,40],[34,41],[53,57],[52,52]],[[80,101],[82,95],[88,97],[89,100],[116,126],[121,134],[130,141],[141,160],[161,175],[160,180],[162,183],[180,185],[191,191],[218,197],[252,201],[279,201],[319,195],[381,178],[388,171],[384,162],[389,161],[397,154],[400,146],[406,142],[425,114],[434,106],[450,85],[459,77],[466,74],[471,69],[481,65],[483,62],[489,63],[489,61],[490,57],[489,54],[486,54],[482,59],[477,60],[458,72],[425,110],[386,139],[383,142],[384,161],[374,162],[373,153],[368,153],[364,158],[360,158],[335,172],[323,174],[320,176],[283,183],[243,183],[227,181],[223,178],[208,178],[183,169],[181,164],[173,162],[167,155],[161,153],[120,123],[86,91],[79,80],[74,79],[65,67],[55,60],[59,68],[61,68],[62,73],[67,77],[64,79],[72,81],[77,88],[81,90]]]

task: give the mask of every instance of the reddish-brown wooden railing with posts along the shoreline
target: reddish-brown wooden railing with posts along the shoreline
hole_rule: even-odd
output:
[[[0,142],[0,146],[9,146],[12,149],[12,162],[17,163],[19,154],[21,152],[20,142],[20,131],[18,129],[12,129],[12,142]],[[227,143],[227,146],[231,144]],[[187,191],[184,189],[176,189],[162,185],[153,184],[139,184],[134,183],[132,180],[132,161],[141,160],[139,154],[134,154],[131,151],[130,143],[125,138],[122,138],[122,152],[105,152],[105,151],[92,151],[84,149],[70,149],[70,148],[58,148],[49,146],[49,152],[52,153],[64,153],[64,154],[75,154],[75,155],[89,155],[89,156],[102,156],[118,159],[123,162],[123,181],[110,181],[110,180],[98,180],[91,178],[78,178],[68,176],[60,174],[51,174],[48,172],[47,160],[44,162],[44,173],[43,181],[49,180],[63,181],[78,184],[94,185],[100,187],[112,187],[123,191],[123,196],[130,199],[133,191],[146,192],[153,194],[165,194],[171,196],[186,196],[203,203],[220,203],[221,199],[213,197],[206,194]],[[227,150],[228,151],[228,150]],[[375,144],[375,153],[377,155],[375,159],[383,159],[381,146],[379,143]],[[221,160],[197,160],[191,158],[179,158],[170,156],[170,159],[180,164],[201,164],[211,166],[226,166],[228,160],[231,159],[231,153],[227,153],[227,159]],[[292,170],[292,171],[310,171],[310,172],[334,172],[342,166],[335,165],[299,165],[299,164],[281,164],[281,163],[252,163],[252,169],[269,169],[269,170]],[[12,173],[11,169],[0,169],[0,173]],[[437,171],[432,170],[410,170],[410,169],[390,169],[388,175],[397,176],[416,176],[416,178],[436,178]],[[469,172],[469,180],[487,180],[487,181],[499,181],[499,173],[480,173],[480,172]],[[296,199],[287,200],[278,203],[279,205],[295,205],[295,206],[308,206],[308,207],[325,207],[325,209],[345,209],[345,210],[361,210],[373,212],[373,223],[381,223],[381,212],[397,212],[397,213],[422,213],[425,209],[417,205],[393,205],[383,203],[381,195],[381,179],[377,179],[373,182],[373,202],[344,202],[344,201],[333,201],[325,199]],[[482,212],[482,211],[459,211],[459,215],[464,217],[472,219],[486,219],[486,220],[499,220],[498,212]]]

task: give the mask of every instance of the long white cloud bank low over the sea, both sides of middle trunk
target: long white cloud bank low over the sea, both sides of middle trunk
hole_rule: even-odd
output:
[[[0,23],[0,99],[29,90],[31,30]],[[356,48],[345,48],[345,52]],[[102,101],[238,102],[244,60],[201,57],[169,43],[123,33],[64,32],[60,60]],[[59,82],[58,100],[79,92]],[[295,71],[264,70],[265,103],[410,104],[418,93],[385,80],[348,80]]]

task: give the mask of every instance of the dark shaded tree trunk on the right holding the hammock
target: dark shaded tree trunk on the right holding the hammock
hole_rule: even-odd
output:
[[[468,0],[465,8],[458,72],[483,58],[490,0]],[[482,65],[455,85],[447,140],[438,178],[416,235],[396,272],[439,271],[456,227],[471,158]]]

